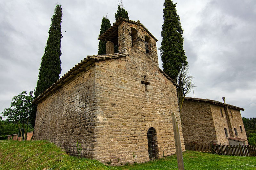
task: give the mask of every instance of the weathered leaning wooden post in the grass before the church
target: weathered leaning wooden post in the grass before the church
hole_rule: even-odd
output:
[[[181,143],[180,143],[179,125],[176,120],[175,114],[173,112],[172,112],[172,126],[173,126],[173,132],[174,132],[174,140],[175,140],[178,168],[179,168],[179,170],[184,170],[182,149],[181,149]]]

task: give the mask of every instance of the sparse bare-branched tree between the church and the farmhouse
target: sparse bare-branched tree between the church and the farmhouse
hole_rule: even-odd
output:
[[[189,69],[188,64],[186,66],[182,66],[177,79],[177,82],[179,85],[179,87],[177,88],[177,95],[178,95],[178,104],[179,104],[180,110],[182,108],[182,104],[185,96],[189,92],[191,92],[193,85],[195,85],[192,82],[193,77],[188,75],[188,69]]]

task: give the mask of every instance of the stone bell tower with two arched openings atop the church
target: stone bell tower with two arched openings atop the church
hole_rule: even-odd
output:
[[[137,22],[119,17],[118,20],[98,40],[106,41],[106,54],[114,54],[114,45],[118,52],[136,52],[147,55],[158,67],[156,42],[158,41],[148,29]]]

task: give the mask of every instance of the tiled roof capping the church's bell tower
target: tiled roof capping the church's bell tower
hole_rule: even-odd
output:
[[[105,31],[103,34],[101,34],[98,38],[98,40],[103,40],[103,41],[108,41],[108,40],[113,40],[115,37],[117,37],[117,27],[123,22],[129,22],[129,23],[132,23],[132,24],[137,24],[137,25],[140,25],[142,26],[150,36],[152,36],[156,42],[158,41],[156,39],[156,37],[154,37],[149,31],[148,29],[143,26],[142,24],[140,24],[139,22],[136,22],[136,21],[132,21],[132,20],[129,20],[129,19],[124,19],[124,18],[121,18],[119,17],[115,23],[113,23],[113,26],[111,26],[107,31]]]

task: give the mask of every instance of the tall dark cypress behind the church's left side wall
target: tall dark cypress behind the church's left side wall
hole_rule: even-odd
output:
[[[57,4],[55,7],[54,15],[52,16],[52,24],[49,29],[49,37],[44,49],[44,55],[39,68],[39,75],[36,85],[35,98],[50,87],[55,81],[60,78],[61,61],[60,55],[60,42],[61,34],[61,18],[62,9],[61,5]],[[31,123],[34,127],[36,118],[36,106],[33,106],[33,114],[31,114]]]

